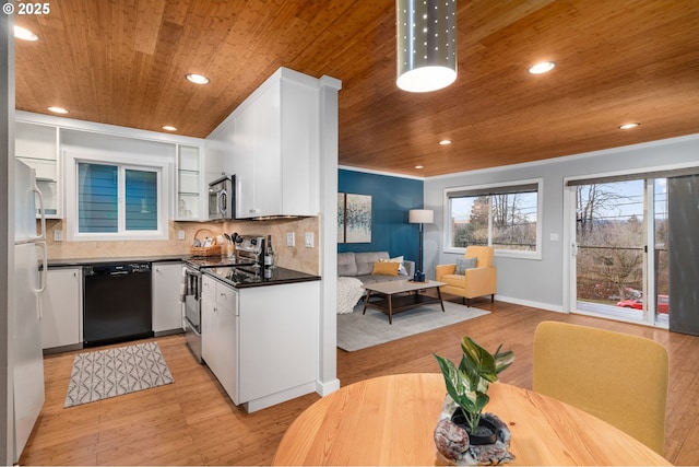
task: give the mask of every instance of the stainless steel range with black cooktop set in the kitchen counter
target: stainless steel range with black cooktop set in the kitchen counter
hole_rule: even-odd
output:
[[[185,260],[183,303],[185,338],[190,350],[201,363],[201,277],[208,268],[245,266],[258,269],[264,261],[264,236],[236,235],[233,257],[192,257]]]

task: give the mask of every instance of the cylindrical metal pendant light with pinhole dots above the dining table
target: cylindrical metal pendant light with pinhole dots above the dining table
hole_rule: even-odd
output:
[[[457,0],[395,1],[400,89],[429,92],[457,79]]]

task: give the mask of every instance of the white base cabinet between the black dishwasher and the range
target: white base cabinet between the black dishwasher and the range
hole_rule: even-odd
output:
[[[182,331],[182,264],[154,262],[151,269],[153,287],[153,331],[156,336]]]

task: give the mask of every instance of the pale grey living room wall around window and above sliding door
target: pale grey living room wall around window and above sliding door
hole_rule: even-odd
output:
[[[425,270],[434,278],[435,266],[455,262],[460,255],[443,252],[445,188],[543,178],[542,259],[496,257],[499,300],[565,311],[564,259],[568,257],[564,225],[564,179],[608,173],[648,172],[653,168],[699,165],[699,135],[616,148],[548,161],[484,171],[463,172],[425,179],[425,209],[435,210],[435,224],[425,229]],[[558,234],[552,242],[550,234]]]

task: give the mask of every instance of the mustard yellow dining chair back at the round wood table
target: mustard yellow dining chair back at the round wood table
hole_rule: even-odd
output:
[[[667,351],[660,343],[567,323],[534,335],[533,388],[582,409],[663,455]]]

